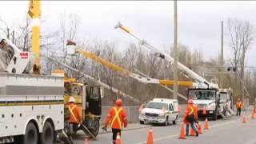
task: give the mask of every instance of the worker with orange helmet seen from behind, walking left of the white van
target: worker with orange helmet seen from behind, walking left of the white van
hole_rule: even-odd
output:
[[[115,106],[110,108],[109,114],[106,117],[105,126],[102,127],[102,130],[106,130],[109,123],[112,128],[113,143],[115,144],[118,133],[121,136],[122,127],[128,125],[126,111],[122,108],[122,99],[117,99]]]

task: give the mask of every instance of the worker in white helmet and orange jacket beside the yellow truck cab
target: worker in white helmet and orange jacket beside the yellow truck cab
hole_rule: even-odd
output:
[[[70,113],[69,123],[70,123],[70,134],[75,134],[82,123],[82,116],[78,106],[74,104],[74,97],[70,97],[67,108]]]

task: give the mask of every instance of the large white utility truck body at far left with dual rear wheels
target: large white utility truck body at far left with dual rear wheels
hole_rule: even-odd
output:
[[[30,53],[5,38],[0,54],[0,143],[52,144],[64,128],[63,77],[24,74]]]

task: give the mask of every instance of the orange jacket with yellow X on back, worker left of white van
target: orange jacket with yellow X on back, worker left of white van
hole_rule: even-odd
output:
[[[110,108],[109,114],[106,117],[105,125],[110,124],[112,129],[121,130],[126,127],[128,120],[126,118],[126,111],[122,107],[114,106]]]

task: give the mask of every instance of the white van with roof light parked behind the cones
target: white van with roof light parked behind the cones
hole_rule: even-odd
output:
[[[176,124],[178,120],[178,100],[169,98],[154,98],[147,102],[139,114],[139,122],[158,123],[165,126]]]

